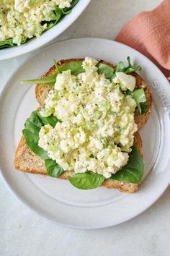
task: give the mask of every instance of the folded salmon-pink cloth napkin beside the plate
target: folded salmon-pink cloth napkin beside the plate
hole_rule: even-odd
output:
[[[170,0],[133,17],[115,40],[147,56],[170,81]]]

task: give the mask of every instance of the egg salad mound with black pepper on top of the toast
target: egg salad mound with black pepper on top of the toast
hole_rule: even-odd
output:
[[[109,178],[128,163],[138,129],[136,102],[126,93],[134,90],[135,77],[117,72],[111,82],[98,74],[97,64],[86,57],[85,72],[76,76],[68,69],[57,75],[40,114],[60,121],[41,127],[38,145],[64,171]]]

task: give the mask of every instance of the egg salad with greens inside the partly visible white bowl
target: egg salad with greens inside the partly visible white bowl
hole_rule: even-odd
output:
[[[73,0],[1,0],[0,46],[19,46],[27,38],[39,37],[66,14]],[[75,1],[75,0],[74,0]],[[57,8],[57,9],[56,9]],[[62,13],[63,12],[63,13]],[[7,41],[6,40],[11,40]]]

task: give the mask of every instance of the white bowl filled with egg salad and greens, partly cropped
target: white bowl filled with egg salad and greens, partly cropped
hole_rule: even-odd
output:
[[[90,0],[1,0],[0,60],[26,54],[60,35]]]

